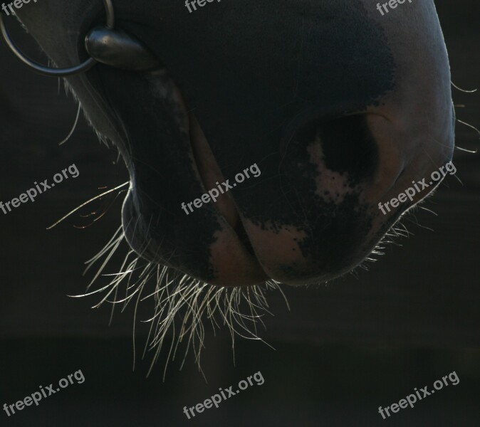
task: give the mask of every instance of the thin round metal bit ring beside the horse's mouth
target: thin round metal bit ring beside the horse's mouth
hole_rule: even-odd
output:
[[[105,13],[107,14],[107,28],[111,30],[115,26],[115,13],[113,11],[112,0],[103,0],[103,5],[105,6]],[[19,51],[19,48],[15,46],[14,42],[9,36],[9,33],[6,31],[3,13],[0,13],[0,30],[2,36],[4,36],[6,44],[9,46],[12,53],[14,53],[14,55],[19,58],[19,60],[21,60],[24,64],[26,64],[29,68],[32,68],[34,71],[42,75],[48,75],[51,77],[66,77],[68,75],[83,73],[84,71],[92,68],[93,65],[97,63],[95,59],[88,58],[88,60],[85,60],[85,62],[70,68],[45,67],[36,62],[33,62],[33,60],[26,58],[26,56],[24,56],[24,54]]]

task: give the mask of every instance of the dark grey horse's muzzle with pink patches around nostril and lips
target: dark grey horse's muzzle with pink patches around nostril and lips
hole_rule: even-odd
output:
[[[358,265],[411,206],[384,217],[378,201],[452,157],[449,67],[433,1],[389,16],[352,0],[224,1],[208,14],[186,14],[180,3],[115,1],[117,26],[167,73],[97,65],[68,78],[129,169],[130,245],[224,285],[313,283]],[[42,0],[19,16],[66,66],[85,59],[83,36],[102,21],[101,2],[92,4]],[[261,169],[261,179],[231,190],[236,225],[216,206],[192,216],[179,209],[208,189],[192,154],[197,120],[221,177]]]

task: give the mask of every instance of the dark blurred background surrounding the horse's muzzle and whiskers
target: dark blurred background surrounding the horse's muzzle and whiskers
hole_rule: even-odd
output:
[[[443,0],[437,7],[453,82],[479,87],[479,3]],[[28,52],[28,37],[9,27]],[[170,362],[164,382],[167,352],[146,378],[151,355],[141,359],[146,339],[141,325],[132,371],[131,307],[117,310],[109,327],[110,305],[90,309],[98,296],[67,296],[84,292],[93,278],[93,273],[82,276],[83,263],[120,225],[121,198],[96,201],[53,230],[46,227],[100,194],[100,187],[122,184],[127,174],[83,118],[73,137],[58,147],[76,112],[58,86],[57,80],[26,70],[0,45],[0,200],[18,196],[33,181],[51,180],[72,163],[80,171],[35,203],[8,215],[0,212],[0,406],[78,369],[85,382],[10,418],[0,410],[0,426],[480,425],[479,154],[456,150],[462,184],[448,176],[423,205],[436,215],[420,209],[405,218],[414,236],[399,241],[401,247],[388,246],[370,272],[360,270],[358,278],[348,275],[321,287],[284,288],[291,311],[272,292],[275,317],[266,316],[261,337],[276,350],[236,339],[234,365],[229,334],[222,330],[212,337],[207,327],[202,366],[208,382],[192,356],[181,371],[182,357]],[[480,127],[480,93],[454,90],[454,102],[464,105],[456,109],[459,120]],[[457,124],[456,144],[478,149],[479,138]],[[93,210],[98,214],[80,216]],[[115,273],[115,263],[108,273]],[[140,310],[138,320],[149,315]],[[184,416],[183,406],[257,371],[264,385],[192,420]],[[414,387],[432,389],[452,371],[459,376],[457,386],[444,387],[388,420],[377,413],[378,406],[400,401]]]

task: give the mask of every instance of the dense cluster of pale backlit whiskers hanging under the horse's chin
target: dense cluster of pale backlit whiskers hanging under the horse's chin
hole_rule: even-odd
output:
[[[153,301],[154,304],[154,314],[150,319],[143,321],[150,323],[150,330],[142,356],[145,357],[147,352],[153,354],[148,374],[160,356],[166,337],[172,337],[172,344],[168,349],[164,378],[168,362],[170,359],[175,359],[182,342],[185,349],[180,369],[184,365],[189,350],[192,349],[194,360],[199,371],[202,371],[200,356],[204,348],[205,320],[212,325],[214,333],[222,325],[228,327],[232,339],[232,351],[234,351],[236,336],[264,342],[259,337],[258,326],[265,327],[262,317],[265,313],[271,314],[268,310],[266,293],[271,290],[280,290],[285,298],[279,283],[269,280],[263,285],[239,288],[209,285],[166,265],[150,263],[131,249],[127,251],[119,273],[102,274],[122,242],[125,242],[125,236],[120,227],[103,249],[86,262],[88,266],[85,273],[95,263],[100,263],[100,267],[88,285],[87,292],[76,297],[102,294],[101,300],[94,308],[100,307],[104,302],[110,302],[113,304],[112,315],[115,305],[122,305],[123,311],[132,300],[135,300],[134,367],[137,307],[146,300]],[[90,290],[100,275],[111,280],[107,285]],[[286,304],[288,306],[287,301]]]

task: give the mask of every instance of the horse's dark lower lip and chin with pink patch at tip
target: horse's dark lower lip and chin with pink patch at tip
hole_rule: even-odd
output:
[[[194,201],[226,179],[213,156],[192,155],[191,109],[169,73],[125,73],[98,65],[80,78],[87,80],[83,94],[86,89],[93,96],[81,100],[89,117],[115,142],[130,173],[122,207],[130,247],[150,262],[211,284],[268,280],[230,193],[189,216],[182,211],[182,202]],[[79,80],[74,83],[78,90]],[[217,172],[212,174],[212,168]]]

